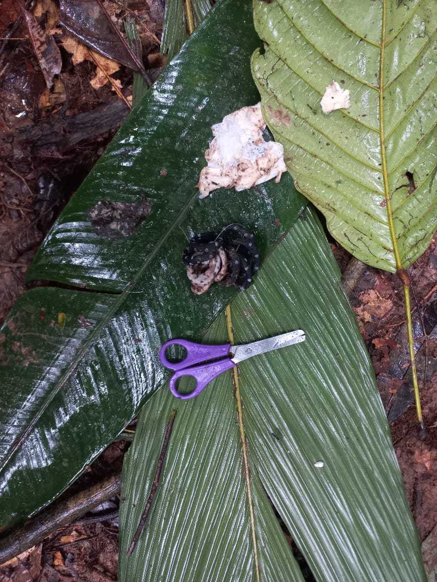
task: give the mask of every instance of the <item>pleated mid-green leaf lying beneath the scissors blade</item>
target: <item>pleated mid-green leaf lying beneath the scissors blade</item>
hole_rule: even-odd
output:
[[[316,580],[424,580],[372,365],[313,211],[231,303],[235,343],[302,328],[304,343],[239,364],[260,579],[302,580],[267,496]],[[205,341],[227,340],[223,317]],[[177,417],[154,505],[168,417]],[[255,580],[231,372],[181,401],[146,403],[124,466],[120,580]]]

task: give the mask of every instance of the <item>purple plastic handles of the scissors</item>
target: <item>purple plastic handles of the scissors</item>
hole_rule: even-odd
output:
[[[179,362],[170,362],[165,356],[165,350],[168,346],[179,345],[185,347],[186,357],[184,360]],[[186,339],[171,339],[165,342],[163,347],[161,347],[159,356],[163,365],[170,370],[175,370],[175,373],[170,378],[170,391],[172,395],[182,400],[188,400],[189,398],[194,398],[203,388],[207,386],[212,379],[216,378],[221,372],[225,370],[230,370],[235,365],[231,357],[225,357],[223,360],[212,361],[209,363],[203,363],[207,360],[213,360],[220,358],[222,356],[228,356],[231,344],[225,343],[219,346],[205,345],[195,342],[189,342]],[[199,364],[200,365],[193,365]],[[189,394],[181,394],[177,391],[176,382],[179,378],[183,376],[192,376],[196,380],[195,389]]]

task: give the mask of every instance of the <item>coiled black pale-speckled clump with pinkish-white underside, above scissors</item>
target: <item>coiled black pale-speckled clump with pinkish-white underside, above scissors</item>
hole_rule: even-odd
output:
[[[220,232],[193,236],[182,262],[196,295],[205,293],[214,282],[247,289],[259,268],[259,252],[252,233],[241,224],[231,224]]]

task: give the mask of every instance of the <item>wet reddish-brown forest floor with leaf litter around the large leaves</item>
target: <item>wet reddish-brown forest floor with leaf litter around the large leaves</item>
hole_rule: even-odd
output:
[[[115,24],[126,13],[135,16],[146,68],[155,79],[164,65],[158,55],[162,2],[104,4]],[[34,35],[33,42],[30,40],[29,20],[22,17],[20,22],[22,8],[33,10],[36,22],[50,31],[60,48],[61,70],[51,81],[47,81],[50,73],[41,71],[41,47],[36,46]],[[9,34],[13,39],[0,40],[0,323],[28,287],[26,271],[51,224],[131,109],[131,70],[110,65],[108,59],[97,65],[88,49],[59,27],[57,10],[52,0],[38,0],[33,5],[3,0],[0,12],[0,36],[4,39]],[[375,368],[428,572],[437,572],[436,242],[409,269],[427,426],[427,436],[422,439],[413,404],[401,283],[395,275],[360,268],[332,242],[340,269],[346,271],[347,293]],[[355,275],[350,274],[351,267],[358,268]],[[126,442],[111,445],[79,484],[72,485],[73,491],[119,471],[127,448]],[[104,512],[100,521],[87,514],[30,552],[1,565],[0,582],[117,580],[117,498],[100,510]]]

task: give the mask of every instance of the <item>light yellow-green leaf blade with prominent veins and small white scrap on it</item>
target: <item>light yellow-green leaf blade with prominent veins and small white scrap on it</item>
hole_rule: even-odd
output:
[[[255,2],[253,75],[295,184],[355,257],[396,271],[436,228],[434,0]],[[325,115],[332,81],[351,108]]]

